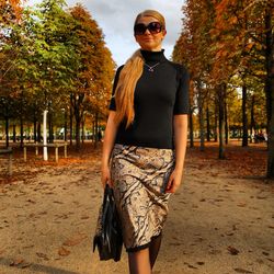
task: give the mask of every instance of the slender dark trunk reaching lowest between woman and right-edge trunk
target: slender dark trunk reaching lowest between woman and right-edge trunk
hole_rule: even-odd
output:
[[[219,103],[219,159],[225,159],[225,95],[226,84],[222,83],[218,89]]]

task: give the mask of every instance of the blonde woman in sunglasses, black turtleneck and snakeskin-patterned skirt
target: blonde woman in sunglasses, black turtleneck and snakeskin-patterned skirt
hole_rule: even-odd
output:
[[[164,57],[165,34],[159,12],[137,15],[140,49],[117,69],[103,145],[102,184],[114,189],[132,274],[151,273],[183,174],[189,75]]]

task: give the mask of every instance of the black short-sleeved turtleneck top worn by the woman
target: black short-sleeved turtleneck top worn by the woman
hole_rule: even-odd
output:
[[[189,113],[189,73],[182,65],[168,60],[163,50],[141,50],[141,55],[145,64],[155,68],[149,71],[149,67],[144,65],[135,89],[134,122],[128,128],[121,123],[115,142],[173,149],[173,115]],[[123,66],[114,78],[112,111],[116,111],[114,93]]]

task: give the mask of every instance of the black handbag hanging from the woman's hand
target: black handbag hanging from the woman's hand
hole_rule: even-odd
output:
[[[105,185],[103,204],[99,210],[95,236],[93,238],[93,252],[98,247],[101,261],[121,260],[123,237],[121,222],[115,206],[113,190]]]

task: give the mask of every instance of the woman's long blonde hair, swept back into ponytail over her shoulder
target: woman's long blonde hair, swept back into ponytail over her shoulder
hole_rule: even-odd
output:
[[[162,31],[165,30],[165,21],[161,13],[155,10],[146,10],[136,16],[135,24],[138,23],[142,16],[152,16],[157,19],[161,25]],[[134,53],[134,55],[126,61],[123,67],[117,87],[115,89],[115,103],[116,103],[116,115],[115,121],[121,123],[126,118],[126,128],[133,123],[135,117],[134,111],[134,92],[136,83],[139,80],[145,59],[140,53],[140,49]]]

